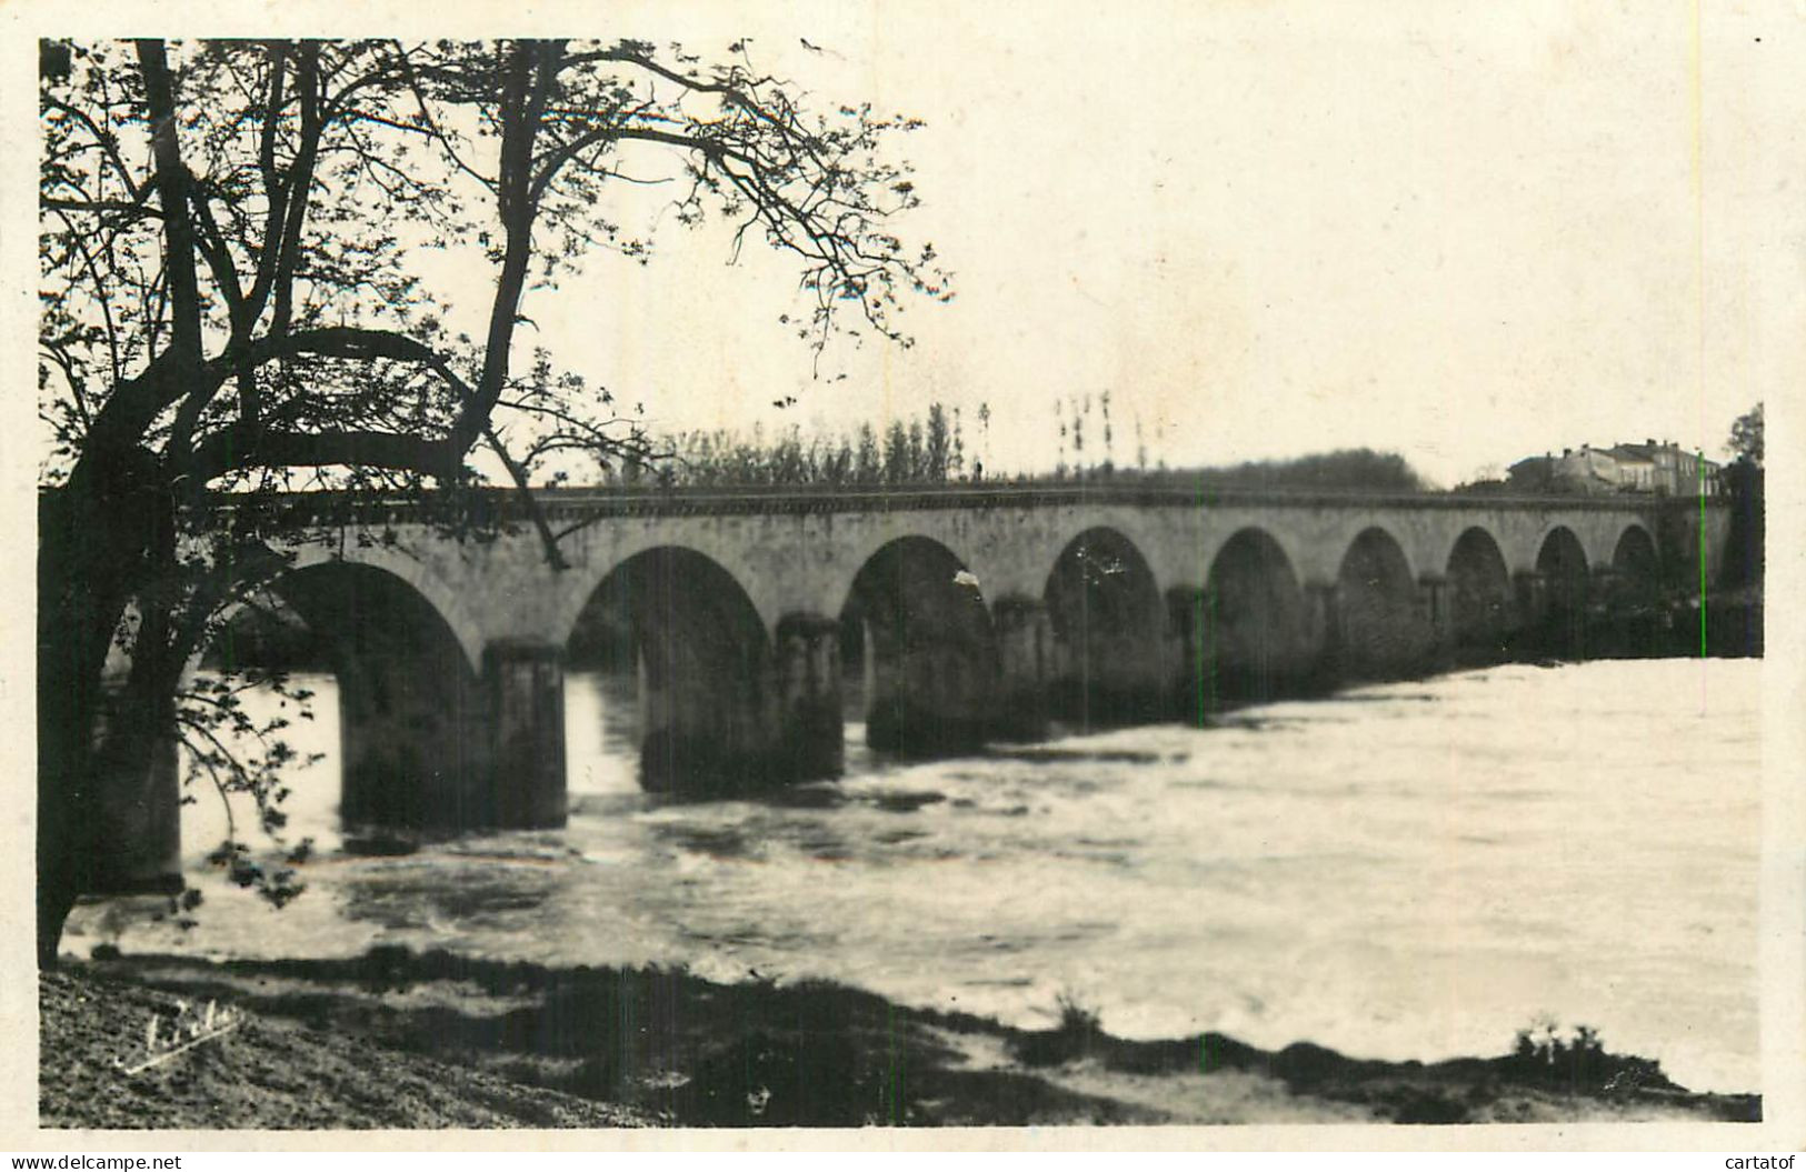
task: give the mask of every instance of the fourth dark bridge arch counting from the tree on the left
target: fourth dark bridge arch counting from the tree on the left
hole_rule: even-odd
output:
[[[1170,672],[1167,607],[1147,558],[1093,526],[1055,558],[1042,589],[1055,643],[1055,712],[1080,728],[1158,719]]]

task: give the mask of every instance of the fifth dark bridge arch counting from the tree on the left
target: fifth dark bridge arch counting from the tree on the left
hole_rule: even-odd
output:
[[[1237,529],[1217,547],[1192,654],[1206,702],[1273,699],[1309,666],[1304,589],[1266,529]]]

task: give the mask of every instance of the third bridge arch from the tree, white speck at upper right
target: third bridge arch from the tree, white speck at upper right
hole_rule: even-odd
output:
[[[885,542],[854,574],[838,623],[845,697],[869,746],[941,755],[986,739],[997,630],[952,549],[916,535]]]

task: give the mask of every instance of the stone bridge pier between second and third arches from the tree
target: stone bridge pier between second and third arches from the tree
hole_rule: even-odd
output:
[[[840,777],[845,766],[840,623],[820,614],[786,614],[778,619],[775,666],[773,780]]]

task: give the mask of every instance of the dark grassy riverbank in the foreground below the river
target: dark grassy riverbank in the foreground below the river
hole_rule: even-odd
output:
[[[242,1015],[137,1074],[146,1022]],[[861,1127],[1757,1120],[1654,1062],[1522,1038],[1369,1062],[1205,1033],[1114,1038],[914,1009],[829,982],[721,984],[444,952],[345,961],[116,957],[40,979],[45,1127]],[[1501,1038],[1501,1049],[1512,1049]]]

